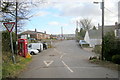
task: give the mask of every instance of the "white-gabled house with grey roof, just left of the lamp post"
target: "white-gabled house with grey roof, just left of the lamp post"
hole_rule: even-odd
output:
[[[86,31],[84,40],[89,43],[90,47],[100,45],[102,43],[102,36],[100,30],[89,30]]]

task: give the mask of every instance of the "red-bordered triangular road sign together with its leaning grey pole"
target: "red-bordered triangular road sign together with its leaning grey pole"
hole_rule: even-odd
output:
[[[11,49],[12,49],[12,61],[15,64],[15,56],[14,56],[14,49],[13,49],[13,41],[12,41],[12,29],[15,25],[15,22],[8,22],[8,23],[3,23],[3,25],[6,27],[6,29],[10,32],[10,41],[11,41]]]

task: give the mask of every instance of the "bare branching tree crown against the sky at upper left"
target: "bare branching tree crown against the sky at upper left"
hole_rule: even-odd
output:
[[[9,1],[9,0],[2,0],[0,2],[0,14],[2,15],[2,19],[0,19],[0,22],[10,22],[15,21],[16,18],[16,2]],[[25,20],[29,20],[29,18],[33,17],[34,15],[30,14],[32,7],[37,7],[38,5],[43,3],[43,0],[38,0],[38,2],[33,3],[32,1],[27,2],[21,2],[18,0],[18,15],[17,15],[17,21],[18,21],[18,30],[20,30],[23,25],[25,24]]]

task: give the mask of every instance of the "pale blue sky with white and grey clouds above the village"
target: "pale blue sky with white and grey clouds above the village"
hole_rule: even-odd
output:
[[[92,24],[101,24],[101,4],[93,4],[102,0],[44,0],[37,8],[32,9],[34,16],[27,21],[24,30],[46,31],[48,34],[73,34],[76,20],[87,18]],[[105,0],[105,25],[114,25],[118,21],[118,1]],[[35,0],[37,2],[37,0]]]

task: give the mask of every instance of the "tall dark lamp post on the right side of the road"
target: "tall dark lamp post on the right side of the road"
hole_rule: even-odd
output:
[[[102,51],[101,51],[101,60],[103,60],[103,51],[104,51],[104,0],[102,2],[94,2],[95,4],[101,3],[102,5]]]

